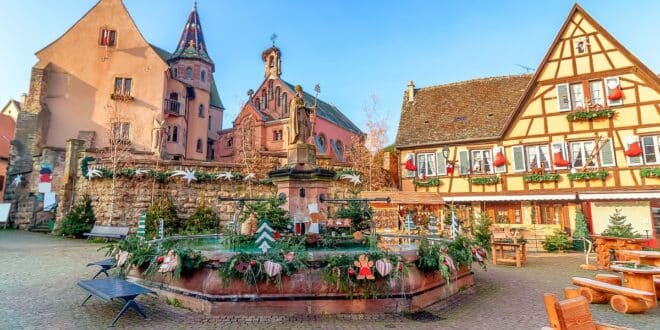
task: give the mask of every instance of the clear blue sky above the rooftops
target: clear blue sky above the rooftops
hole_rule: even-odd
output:
[[[0,0],[0,102],[27,92],[34,53],[76,22],[96,0]],[[151,43],[172,51],[192,0],[125,0]],[[378,99],[390,142],[408,81],[417,87],[524,73],[536,67],[572,1],[200,0],[227,111],[225,127],[263,79],[261,51],[277,33],[283,78],[334,103],[364,127]],[[652,70],[660,71],[660,1],[581,1],[601,25]],[[4,100],[3,100],[4,99]]]

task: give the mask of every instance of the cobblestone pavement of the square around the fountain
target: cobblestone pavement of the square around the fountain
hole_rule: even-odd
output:
[[[105,328],[119,304],[91,299],[75,285],[96,271],[85,264],[103,257],[103,244],[42,234],[0,230],[0,329]],[[117,328],[139,329],[540,329],[546,325],[544,292],[561,295],[572,276],[593,277],[578,267],[581,254],[538,254],[522,269],[475,268],[476,286],[450,302],[415,315],[226,316],[210,317],[139,298],[151,317],[128,312]],[[660,328],[660,308],[642,315],[623,315],[608,305],[591,306],[594,319],[637,329]]]

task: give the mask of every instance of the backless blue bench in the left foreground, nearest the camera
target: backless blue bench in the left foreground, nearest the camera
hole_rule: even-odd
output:
[[[117,278],[107,278],[102,280],[84,280],[78,282],[78,286],[89,293],[89,296],[83,301],[80,306],[85,305],[87,300],[95,296],[105,302],[112,301],[113,299],[120,299],[124,301],[124,307],[121,309],[117,317],[112,321],[111,327],[115,326],[117,320],[126,313],[129,308],[133,308],[138,314],[142,315],[145,320],[148,320],[147,315],[142,311],[140,305],[135,301],[135,298],[141,294],[156,294],[155,291],[131,283],[126,280]]]

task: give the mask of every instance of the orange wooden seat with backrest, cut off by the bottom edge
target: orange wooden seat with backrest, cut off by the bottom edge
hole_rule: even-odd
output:
[[[544,329],[627,329],[593,321],[591,310],[589,309],[589,301],[582,296],[558,301],[554,294],[546,293],[543,295],[543,302],[545,304],[545,311],[548,314],[548,322],[550,323],[550,327],[545,327]]]

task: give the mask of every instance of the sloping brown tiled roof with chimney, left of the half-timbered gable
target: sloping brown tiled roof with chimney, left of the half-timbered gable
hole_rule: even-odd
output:
[[[481,78],[404,94],[396,146],[412,147],[499,138],[531,74]]]

